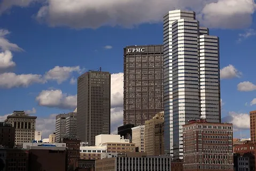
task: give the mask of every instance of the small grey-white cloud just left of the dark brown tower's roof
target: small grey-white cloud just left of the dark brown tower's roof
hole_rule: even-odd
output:
[[[73,72],[80,73],[81,71],[82,69],[79,66],[75,66],[75,67],[56,66],[50,69],[50,71],[46,72],[44,77],[45,77],[45,80],[55,80],[57,81],[58,84],[60,84],[66,81],[69,77],[71,77],[71,74]]]

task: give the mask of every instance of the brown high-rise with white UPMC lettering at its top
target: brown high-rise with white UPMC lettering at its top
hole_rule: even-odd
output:
[[[123,124],[144,125],[164,111],[163,46],[127,46],[123,56]]]

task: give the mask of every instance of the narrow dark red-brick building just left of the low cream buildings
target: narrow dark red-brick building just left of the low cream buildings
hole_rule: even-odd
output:
[[[75,170],[78,167],[80,159],[80,140],[72,138],[63,138],[63,143],[67,147],[68,171]]]

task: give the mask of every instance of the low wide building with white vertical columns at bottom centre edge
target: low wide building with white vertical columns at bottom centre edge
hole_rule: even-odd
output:
[[[95,162],[95,171],[171,170],[172,158],[170,156],[145,157],[143,155],[143,153],[136,153],[135,155],[133,153],[125,153],[118,155],[118,157],[97,160]]]

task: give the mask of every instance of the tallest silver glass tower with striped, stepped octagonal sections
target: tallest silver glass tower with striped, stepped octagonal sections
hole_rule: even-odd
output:
[[[193,11],[164,16],[165,152],[183,159],[182,126],[191,119],[221,122],[219,37]]]

